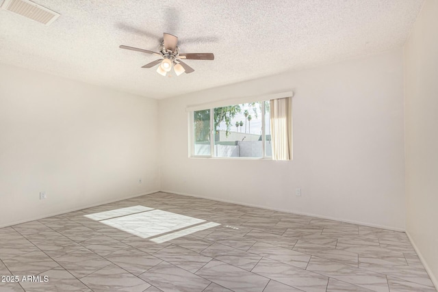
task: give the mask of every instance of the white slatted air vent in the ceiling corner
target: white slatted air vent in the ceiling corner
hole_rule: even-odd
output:
[[[44,25],[53,23],[60,16],[59,13],[28,0],[5,0],[1,8],[31,18]]]

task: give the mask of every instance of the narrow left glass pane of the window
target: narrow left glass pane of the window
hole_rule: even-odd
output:
[[[194,111],[194,155],[210,155],[210,110]]]

